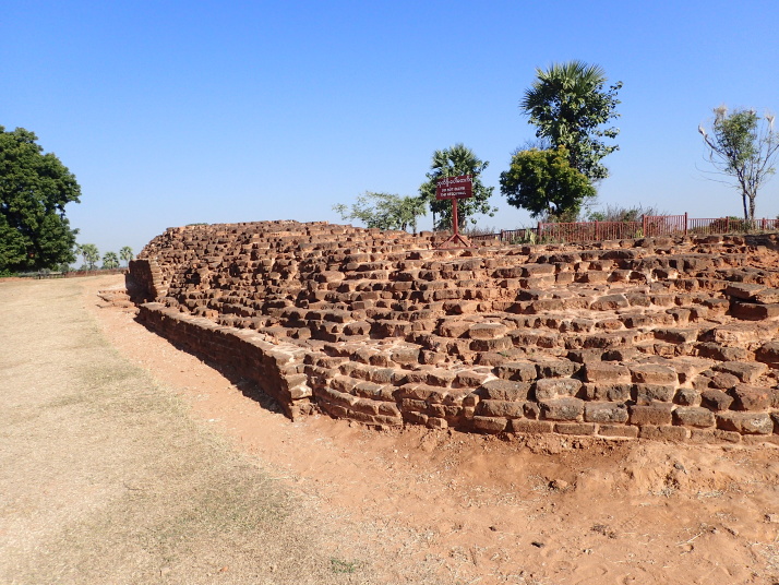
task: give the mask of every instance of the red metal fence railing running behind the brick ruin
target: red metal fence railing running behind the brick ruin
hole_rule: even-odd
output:
[[[755,219],[750,223],[735,217],[695,218],[684,215],[645,215],[640,222],[539,222],[537,227],[502,229],[498,234],[468,236],[471,240],[519,242],[576,242],[624,240],[659,236],[706,236],[779,230],[779,219]]]

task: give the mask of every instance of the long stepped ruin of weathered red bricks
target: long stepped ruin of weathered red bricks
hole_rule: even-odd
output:
[[[779,443],[776,235],[434,248],[262,222],[168,229],[139,319],[290,417]]]

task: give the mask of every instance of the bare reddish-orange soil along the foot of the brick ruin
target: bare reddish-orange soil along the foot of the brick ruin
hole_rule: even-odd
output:
[[[321,506],[351,547],[452,583],[779,583],[779,449],[377,432],[267,401],[84,299],[115,347]],[[105,303],[103,303],[105,305]],[[249,393],[249,391],[247,391]],[[381,563],[382,559],[374,559]]]

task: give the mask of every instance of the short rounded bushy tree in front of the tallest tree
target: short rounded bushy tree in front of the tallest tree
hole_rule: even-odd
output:
[[[501,172],[501,193],[510,205],[529,211],[532,217],[575,222],[596,190],[560,147],[515,153],[511,168]]]

